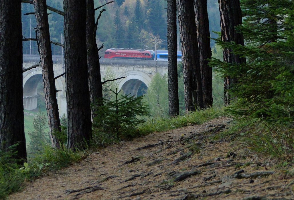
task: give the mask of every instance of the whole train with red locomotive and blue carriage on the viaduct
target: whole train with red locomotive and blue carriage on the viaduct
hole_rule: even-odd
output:
[[[104,58],[140,59],[140,60],[168,60],[167,50],[141,50],[141,49],[117,49],[110,48],[104,53]],[[182,52],[177,51],[177,60],[182,60]]]

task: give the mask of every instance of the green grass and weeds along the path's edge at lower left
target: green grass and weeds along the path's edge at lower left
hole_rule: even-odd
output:
[[[58,150],[44,146],[31,162],[24,163],[21,167],[16,164],[16,160],[11,159],[14,154],[13,149],[9,152],[0,151],[0,199],[19,191],[25,180],[32,180],[44,172],[69,166],[86,156],[84,151],[70,150],[64,146]]]

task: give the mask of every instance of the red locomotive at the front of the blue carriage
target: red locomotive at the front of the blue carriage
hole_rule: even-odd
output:
[[[141,60],[154,60],[153,50],[140,50],[140,49],[107,49],[104,58],[123,58],[123,59],[141,59]]]

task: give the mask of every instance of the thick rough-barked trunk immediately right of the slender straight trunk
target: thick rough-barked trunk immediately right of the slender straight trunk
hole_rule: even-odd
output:
[[[186,113],[203,108],[201,71],[193,0],[177,0]]]

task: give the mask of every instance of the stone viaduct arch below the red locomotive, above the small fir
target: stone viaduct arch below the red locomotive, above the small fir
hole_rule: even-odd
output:
[[[126,77],[120,79],[118,82],[118,88],[122,89],[126,94],[133,95],[142,95],[144,90],[147,90],[151,77],[145,72],[139,70],[130,70],[123,74],[121,77]]]

